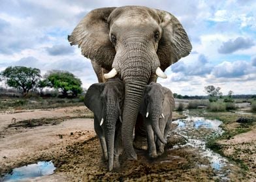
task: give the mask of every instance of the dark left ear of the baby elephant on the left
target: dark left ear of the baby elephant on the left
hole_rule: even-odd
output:
[[[95,83],[91,85],[88,88],[84,98],[84,104],[95,114],[95,116],[101,115],[103,110],[103,104],[101,103],[101,93],[103,92],[104,85],[104,83]],[[98,119],[100,120],[101,118]]]

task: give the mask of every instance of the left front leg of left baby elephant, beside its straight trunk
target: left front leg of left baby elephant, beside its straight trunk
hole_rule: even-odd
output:
[[[108,160],[108,151],[106,149],[106,140],[104,137],[104,131],[102,127],[99,125],[99,120],[97,117],[94,117],[94,130],[99,138],[99,142],[101,143],[101,149],[103,151],[104,160]]]

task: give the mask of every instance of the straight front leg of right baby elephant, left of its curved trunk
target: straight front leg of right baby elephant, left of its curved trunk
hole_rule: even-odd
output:
[[[157,157],[157,149],[155,147],[155,135],[153,133],[152,125],[147,124],[147,138],[148,138],[148,153],[152,158]]]

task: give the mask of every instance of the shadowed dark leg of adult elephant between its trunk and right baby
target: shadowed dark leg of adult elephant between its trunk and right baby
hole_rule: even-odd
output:
[[[138,113],[136,125],[135,125],[135,140],[133,141],[133,146],[136,149],[147,150],[147,131],[144,125],[143,116]]]

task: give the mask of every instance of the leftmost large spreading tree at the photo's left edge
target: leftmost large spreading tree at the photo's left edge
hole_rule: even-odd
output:
[[[41,77],[39,69],[25,66],[9,66],[0,73],[0,76],[8,86],[22,90],[24,94],[35,88]]]

